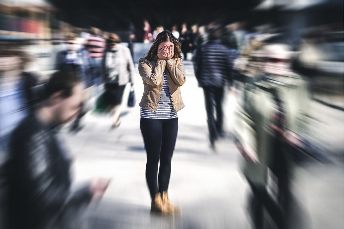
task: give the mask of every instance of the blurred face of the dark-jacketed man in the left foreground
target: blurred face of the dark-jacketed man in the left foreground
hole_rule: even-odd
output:
[[[73,88],[73,94],[68,98],[61,98],[56,104],[56,121],[65,124],[77,116],[84,100],[84,85],[78,83]]]

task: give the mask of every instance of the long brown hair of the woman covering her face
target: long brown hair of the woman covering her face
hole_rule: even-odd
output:
[[[152,60],[154,58],[154,56],[157,55],[158,47],[159,47],[160,43],[162,43],[162,42],[172,42],[173,43],[174,55],[173,55],[172,59],[177,58],[177,57],[182,58],[182,55],[181,55],[182,43],[177,38],[175,38],[175,36],[173,36],[173,34],[170,31],[167,31],[167,30],[162,31],[158,34],[154,43],[150,47],[148,53],[145,55],[145,58]]]

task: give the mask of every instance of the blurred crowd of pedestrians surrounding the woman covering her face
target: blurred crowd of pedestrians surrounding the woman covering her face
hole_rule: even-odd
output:
[[[2,11],[6,18],[10,11]],[[110,112],[110,126],[117,128],[123,92],[137,74],[135,32],[128,32],[125,43],[119,34],[95,27],[68,25],[48,36],[44,21],[18,21],[22,26],[15,33],[0,31],[0,199],[1,206],[11,203],[1,209],[9,214],[2,220],[9,219],[10,228],[67,228],[61,225],[73,218],[68,214],[101,197],[105,178],[70,190],[71,159],[56,132],[62,124],[74,133],[82,130],[92,109]],[[150,44],[165,29],[152,31],[144,20],[142,30],[143,43]],[[245,20],[183,23],[168,30],[181,41],[183,60],[192,62],[203,89],[212,150],[229,135],[226,93],[238,101],[229,132],[254,193],[255,228],[263,227],[263,207],[279,228],[286,227],[294,164],[333,160],[312,140],[309,106],[317,100],[343,110],[343,23],[302,28],[297,38],[272,22],[252,26]],[[50,67],[37,61],[31,49],[37,45],[49,46]],[[268,171],[276,177],[277,201],[266,190]]]

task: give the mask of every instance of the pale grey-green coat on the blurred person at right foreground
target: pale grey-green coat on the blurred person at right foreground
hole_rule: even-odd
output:
[[[268,92],[271,89],[276,90],[278,97],[284,100],[284,125],[287,130],[306,137],[309,121],[309,93],[307,83],[300,76],[266,76],[253,84],[246,83],[245,99],[236,112],[235,138],[244,148],[250,147],[257,153],[259,163],[243,159],[241,165],[247,179],[262,186],[267,181],[267,166],[275,137],[270,126],[277,106]]]

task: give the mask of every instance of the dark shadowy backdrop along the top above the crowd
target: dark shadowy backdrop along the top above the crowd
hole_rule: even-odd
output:
[[[286,26],[291,22],[303,26],[313,26],[343,21],[343,1],[326,0],[299,11],[281,11],[276,7],[270,10],[253,11],[264,0],[48,0],[60,10],[57,19],[74,26],[118,33],[122,40],[133,31],[137,42],[142,41],[143,20],[148,20],[152,31],[156,26],[171,30],[173,25],[181,30],[181,24],[188,27],[197,23],[206,25],[211,22],[222,24],[234,21],[246,22],[247,29],[263,23]],[[288,0],[280,0],[288,2]],[[292,28],[290,28],[292,29]],[[288,29],[287,29],[288,30]]]

